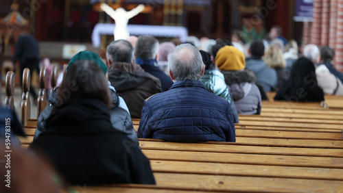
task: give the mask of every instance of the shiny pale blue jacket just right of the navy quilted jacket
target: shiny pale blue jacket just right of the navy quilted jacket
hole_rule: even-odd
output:
[[[204,83],[206,90],[218,97],[226,99],[228,103],[230,103],[231,110],[233,111],[233,119],[235,120],[235,123],[239,123],[235,101],[233,101],[231,94],[228,91],[224,81],[224,75],[220,73],[219,70],[205,70],[205,73],[200,80]]]

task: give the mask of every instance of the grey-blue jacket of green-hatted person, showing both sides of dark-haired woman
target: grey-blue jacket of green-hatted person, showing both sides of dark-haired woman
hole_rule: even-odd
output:
[[[110,121],[113,125],[113,128],[126,133],[128,137],[131,138],[131,140],[133,140],[137,144],[137,146],[139,146],[139,141],[136,135],[136,131],[134,130],[130,114],[128,114],[126,110],[123,110],[121,107],[119,107],[118,94],[113,90],[110,90],[110,92],[112,98],[112,103],[110,105]],[[51,114],[54,114],[54,112],[56,112],[56,107],[60,107],[62,105],[62,102],[58,100],[57,88],[53,92],[51,92],[49,102],[51,105],[47,106],[38,117],[37,129],[34,133],[34,139],[36,139],[40,135],[40,133],[46,130],[46,120],[51,116]]]

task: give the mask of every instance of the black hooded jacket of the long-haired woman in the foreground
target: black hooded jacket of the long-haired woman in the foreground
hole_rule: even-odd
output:
[[[155,183],[149,160],[126,133],[113,128],[102,101],[66,101],[46,128],[29,148],[45,153],[70,183]]]

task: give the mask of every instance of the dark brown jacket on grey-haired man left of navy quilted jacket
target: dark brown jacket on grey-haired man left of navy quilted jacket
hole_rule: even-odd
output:
[[[108,80],[123,97],[132,118],[141,118],[143,102],[161,92],[161,81],[138,64],[115,62],[108,67]]]

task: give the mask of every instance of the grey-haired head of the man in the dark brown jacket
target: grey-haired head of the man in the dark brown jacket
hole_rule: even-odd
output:
[[[133,47],[127,40],[116,40],[108,45],[106,57],[110,62],[133,62]]]

